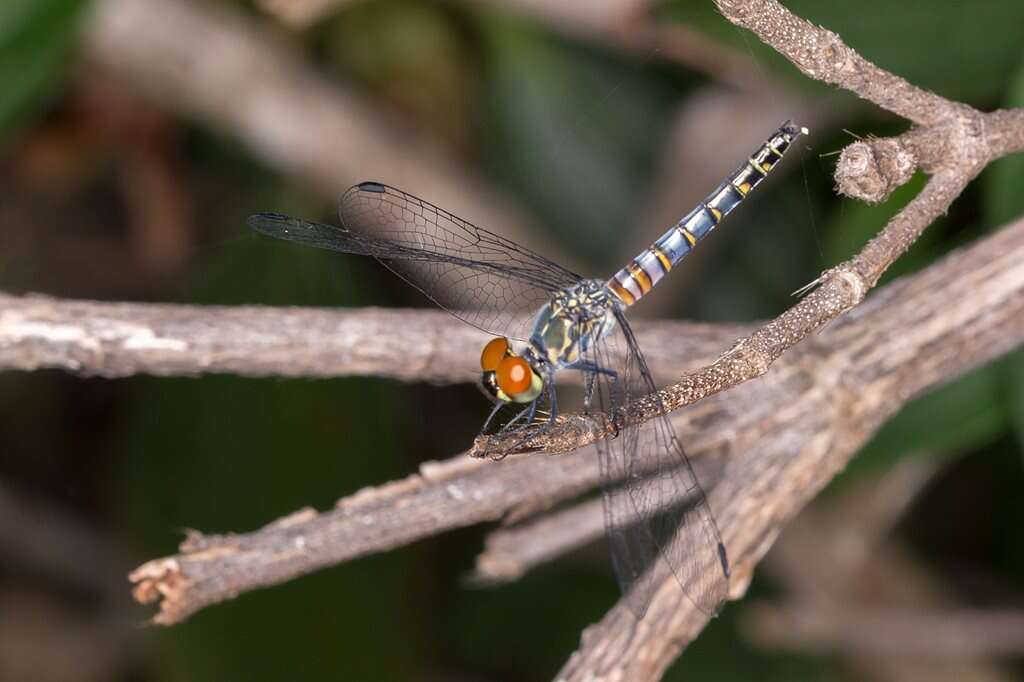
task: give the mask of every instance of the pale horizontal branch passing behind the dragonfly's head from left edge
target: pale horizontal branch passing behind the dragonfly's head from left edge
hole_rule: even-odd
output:
[[[651,367],[664,376],[710,361],[744,329],[637,324]],[[158,305],[0,293],[0,370],[475,382],[477,357],[489,338],[433,309]],[[686,339],[685,349],[679,339]]]

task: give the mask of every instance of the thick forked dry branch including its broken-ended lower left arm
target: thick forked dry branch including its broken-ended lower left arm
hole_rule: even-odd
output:
[[[889,415],[916,393],[1022,341],[1024,221],[1019,221],[889,285],[813,343],[783,356],[761,380],[683,411],[679,430],[688,434],[698,465],[730,455],[724,471],[710,474],[714,467],[709,467],[701,475],[714,486],[712,507],[733,557],[733,596],[742,592],[743,577],[782,524]],[[333,511],[306,510],[244,535],[194,534],[180,554],[133,573],[136,597],[161,601],[157,621],[175,623],[251,589],[523,506],[543,508],[599,482],[592,450],[501,463],[460,457],[367,488]],[[666,610],[657,600],[652,608],[638,626],[628,608],[616,607],[612,616],[636,633],[594,652],[638,675],[629,679],[649,677],[649,665],[664,669],[686,641],[684,634],[703,625],[703,616],[687,608]],[[675,637],[651,637],[650,631],[663,628]],[[596,641],[594,634],[588,641]],[[630,653],[637,647],[653,657],[637,663]]]

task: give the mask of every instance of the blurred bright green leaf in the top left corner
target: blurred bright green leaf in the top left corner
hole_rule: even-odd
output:
[[[41,105],[70,66],[81,0],[0,3],[0,139],[18,118]]]

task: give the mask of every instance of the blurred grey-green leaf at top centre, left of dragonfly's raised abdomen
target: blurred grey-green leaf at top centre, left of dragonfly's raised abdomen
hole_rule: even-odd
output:
[[[650,68],[571,46],[513,19],[481,22],[492,173],[583,258],[618,265],[676,94]]]

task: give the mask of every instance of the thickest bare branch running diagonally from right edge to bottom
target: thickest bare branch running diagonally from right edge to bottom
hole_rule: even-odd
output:
[[[946,293],[955,290],[955,296],[966,297],[963,301],[932,298],[945,289],[935,275],[952,266],[954,257],[942,267],[887,287],[829,326],[813,343],[805,342],[784,355],[759,381],[715,396],[748,404],[743,396],[758,392],[757,400],[767,401],[780,413],[757,415],[753,432],[741,430],[745,419],[740,419],[730,444],[734,454],[742,456],[728,460],[729,466],[710,494],[733,560],[733,598],[742,594],[754,566],[783,525],[905,399],[934,385],[940,375],[948,379],[947,372],[958,374],[1024,340],[1024,268],[1011,261],[994,264],[973,257],[982,252],[995,256],[989,249],[998,249],[996,244],[1024,246],[1024,221],[993,240],[976,247],[977,251],[972,249],[970,255],[957,254],[964,260],[950,267],[956,273],[948,273],[959,281]],[[989,297],[994,292],[988,291],[976,298],[980,292],[974,287],[985,289],[989,276],[1000,281],[1000,288],[1010,286],[1015,292]],[[995,317],[1001,322],[989,328],[988,311],[998,308],[1002,309]],[[952,334],[932,336],[939,329]],[[928,340],[915,338],[922,333]],[[991,352],[990,344],[1001,350]],[[794,372],[794,366],[806,374]],[[794,390],[790,382],[802,389],[799,398],[788,392]],[[666,587],[667,594],[671,589]],[[640,626],[631,620],[625,604],[616,605],[587,630],[581,649],[560,679],[587,679],[595,670],[622,679],[657,679],[707,621],[695,609],[680,608],[673,601],[654,599]]]

